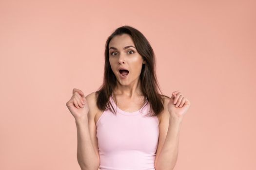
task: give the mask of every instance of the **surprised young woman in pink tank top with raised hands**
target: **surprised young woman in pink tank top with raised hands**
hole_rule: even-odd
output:
[[[179,129],[190,102],[161,93],[155,54],[137,29],[119,27],[105,46],[103,85],[66,103],[77,125],[82,170],[172,170]],[[160,91],[160,93],[158,92]]]

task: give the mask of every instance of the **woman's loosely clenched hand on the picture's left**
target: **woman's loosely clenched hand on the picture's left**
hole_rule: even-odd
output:
[[[88,102],[86,101],[82,90],[73,89],[71,99],[66,102],[66,106],[76,120],[87,117],[89,112]]]

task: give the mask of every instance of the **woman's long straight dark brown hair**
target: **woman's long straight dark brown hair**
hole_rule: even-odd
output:
[[[104,67],[104,77],[103,84],[96,91],[97,106],[98,109],[103,111],[108,108],[112,113],[117,114],[111,102],[109,102],[110,96],[117,85],[117,78],[112,71],[109,63],[109,42],[116,35],[129,34],[135,44],[138,53],[146,60],[146,64],[142,65],[141,73],[139,76],[141,92],[144,96],[144,105],[146,102],[150,104],[150,110],[147,116],[156,116],[163,111],[164,97],[162,94],[157,76],[156,76],[156,59],[155,53],[150,46],[150,43],[146,37],[140,33],[137,29],[124,25],[117,28],[107,39],[105,44],[105,67]],[[158,93],[158,89],[161,94]],[[168,97],[168,96],[165,96]],[[168,97],[169,98],[169,97]],[[147,99],[147,100],[146,100]]]

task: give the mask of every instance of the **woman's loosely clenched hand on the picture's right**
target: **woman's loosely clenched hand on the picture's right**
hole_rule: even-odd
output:
[[[179,90],[172,93],[172,97],[168,103],[168,111],[172,118],[183,119],[183,116],[190,107],[190,102],[185,98]]]

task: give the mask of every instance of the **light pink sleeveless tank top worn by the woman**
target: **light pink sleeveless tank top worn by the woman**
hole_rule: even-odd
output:
[[[143,117],[149,103],[136,112],[117,108],[117,115],[106,109],[96,123],[100,170],[155,170],[159,121]]]

